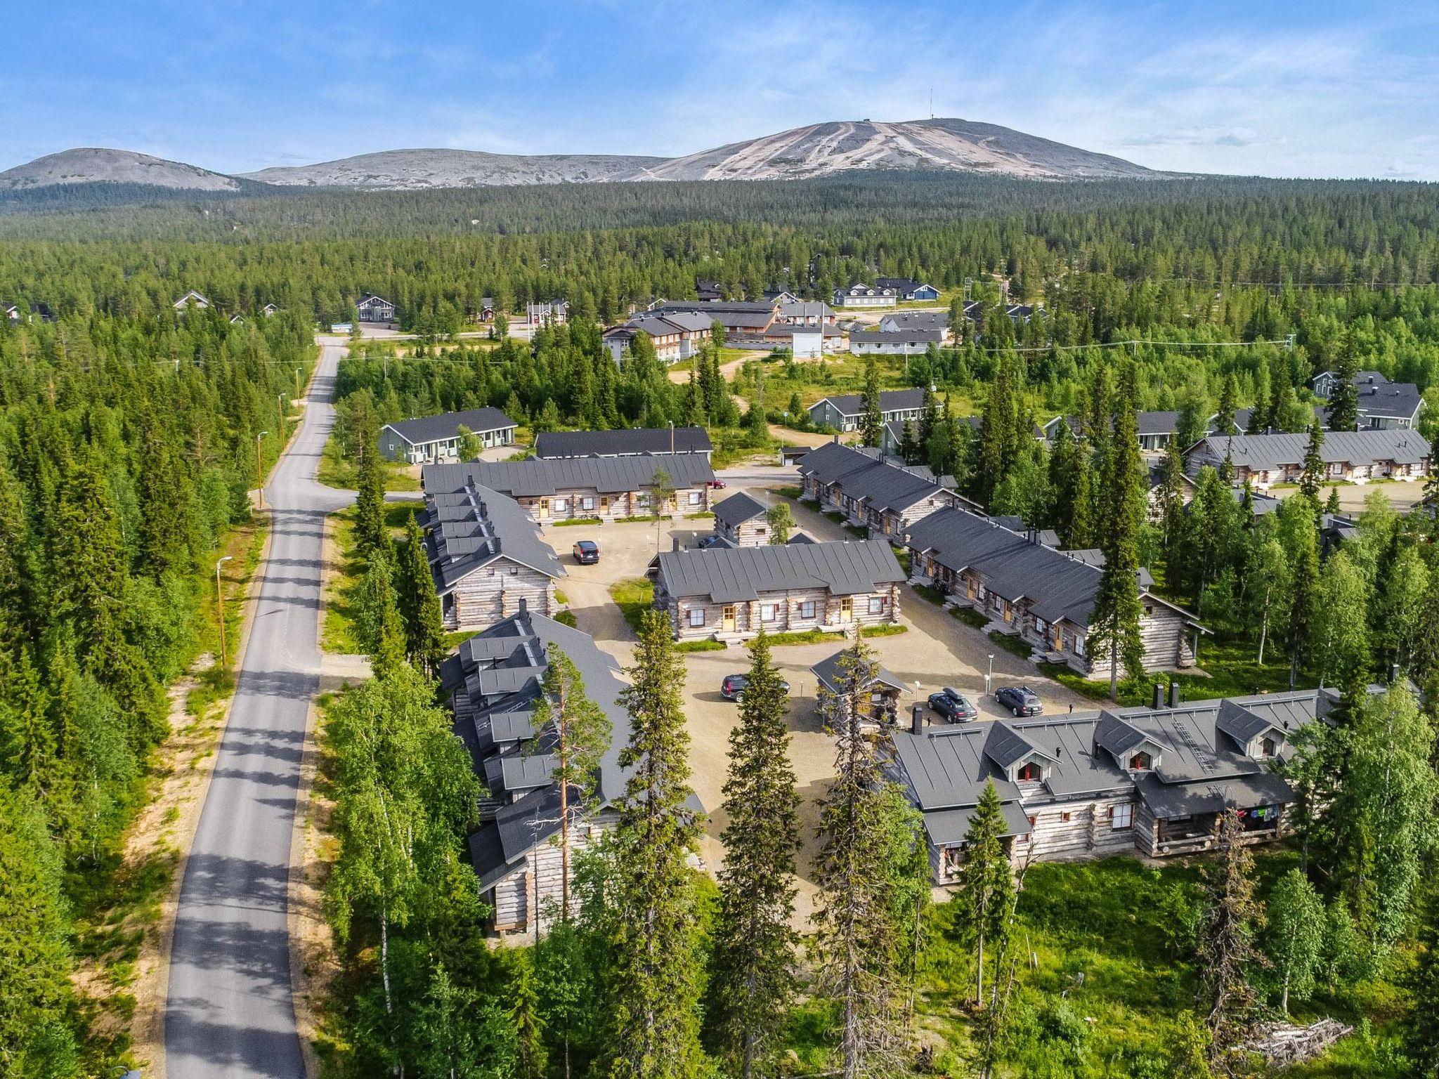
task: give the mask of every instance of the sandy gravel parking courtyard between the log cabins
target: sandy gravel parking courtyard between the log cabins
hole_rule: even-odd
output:
[[[794,512],[800,518],[800,527],[816,540],[852,538],[839,525],[802,506]],[[568,600],[576,623],[591,634],[602,649],[627,666],[633,662],[635,634],[610,598],[610,586],[614,581],[643,575],[649,560],[658,551],[671,550],[673,538],[679,538],[684,547],[692,545],[695,538],[711,531],[711,522],[666,521],[658,528],[653,524],[637,522],[567,528],[551,525],[544,531],[545,540],[566,564],[568,577],[560,581],[560,591]],[[594,540],[600,544],[600,561],[596,565],[574,564],[570,548],[577,540]],[[994,663],[994,685],[1027,685],[1043,699],[1046,712],[1063,712],[1071,705],[1092,706],[1092,702],[1058,682],[1042,678],[1033,665],[994,647],[983,633],[909,590],[905,590],[901,598],[899,616],[908,627],[905,633],[872,637],[868,643],[879,662],[911,686],[902,698],[901,715],[908,715],[909,704],[924,701],[941,686],[955,686],[968,695],[979,705],[981,721],[1007,715],[991,698],[984,698],[984,673],[990,655]],[[793,737],[790,757],[804,800],[797,922],[807,919],[813,908],[814,886],[810,866],[817,849],[819,800],[827,788],[835,765],[833,739],[823,732],[814,715],[816,682],[809,669],[846,645],[845,639],[836,637],[819,645],[774,649],[774,660],[790,682],[789,719]],[[704,856],[711,869],[718,868],[724,859],[720,833],[725,820],[720,806],[728,768],[730,731],[738,718],[738,708],[721,698],[720,682],[728,673],[743,672],[747,665],[748,656],[743,647],[694,652],[685,656],[685,715],[691,737],[691,770],[695,793],[709,810]],[[938,721],[934,715],[930,719]]]

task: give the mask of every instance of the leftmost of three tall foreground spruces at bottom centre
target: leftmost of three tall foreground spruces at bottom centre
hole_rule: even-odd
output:
[[[623,693],[630,768],[613,842],[616,879],[609,1075],[612,1079],[688,1079],[701,1060],[698,909],[688,859],[699,843],[689,809],[689,735],[681,711],[684,665],[669,623],[648,611],[640,623],[632,683]]]

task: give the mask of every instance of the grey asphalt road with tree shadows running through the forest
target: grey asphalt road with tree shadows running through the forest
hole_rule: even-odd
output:
[[[324,518],[348,502],[347,492],[315,482],[344,354],[344,338],[319,341],[304,426],[265,488],[272,532],[255,624],[180,889],[168,1079],[304,1076],[289,983],[289,839],[307,714],[319,689]]]

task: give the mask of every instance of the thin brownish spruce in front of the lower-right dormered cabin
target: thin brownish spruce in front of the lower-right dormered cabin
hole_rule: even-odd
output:
[[[1212,1059],[1227,1052],[1252,1019],[1252,974],[1262,961],[1253,942],[1262,914],[1255,898],[1253,855],[1239,843],[1240,834],[1239,817],[1226,810],[1219,820],[1219,860],[1204,869],[1199,971]]]

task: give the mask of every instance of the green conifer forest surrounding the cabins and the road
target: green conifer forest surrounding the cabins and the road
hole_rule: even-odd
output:
[[[957,347],[868,370],[776,358],[725,380],[709,348],[673,383],[648,342],[619,368],[600,345],[597,324],[691,296],[696,276],[735,296],[827,298],[879,273],[924,278],[945,304],[973,279],[981,317]],[[363,472],[378,676],[328,721],[341,847],[328,909],[345,961],[334,1073],[886,1075],[911,1065],[922,1032],[927,1059],[953,1073],[1202,1076],[1232,1063],[1249,1019],[1294,1009],[1363,1024],[1331,1070],[1308,1075],[1433,1075],[1433,525],[1380,499],[1321,552],[1318,475],[1256,518],[1215,470],[1186,508],[1173,457],[1158,518],[1141,521],[1147,476],[1127,447],[1135,409],[1173,409],[1196,437],[1239,409],[1252,430],[1307,432],[1308,384],[1327,368],[1416,383],[1432,433],[1436,275],[1439,188],[1420,184],[856,176],[4,196],[0,302],[22,317],[0,321],[0,1075],[101,1075],[121,1059],[73,978],[82,922],[102,911],[121,834],[163,765],[165,686],[217,643],[214,558],[250,521],[256,436],[268,465],[315,324],[345,319],[364,292],[394,301],[419,340],[403,357],[358,345],[338,387],[337,440]],[[1004,317],[1002,286],[1039,314]],[[209,309],[177,312],[187,289]],[[564,296],[571,321],[532,341],[448,340],[473,328],[484,296],[508,311]],[[265,318],[265,304],[281,312]],[[1305,807],[1333,811],[1302,819],[1295,850],[1255,862],[1039,866],[1014,891],[996,862],[996,803],[971,821],[974,886],[931,909],[911,814],[876,781],[873,747],[840,732],[823,909],[797,951],[793,784],[764,788],[770,813],[743,811],[783,758],[777,695],[748,701],[727,787],[727,839],[760,862],[735,860],[717,893],[686,869],[682,657],[646,624],[626,752],[650,765],[649,786],[626,793],[614,842],[580,865],[576,916],[535,948],[492,954],[460,860],[473,780],[433,706],[414,534],[394,544],[383,522],[377,426],[494,404],[532,429],[705,423],[766,446],[767,422],[803,423],[809,400],[881,381],[932,387],[907,456],[1072,547],[1151,568],[1216,630],[1216,670],[1255,653],[1263,666],[1268,647],[1266,688],[1338,686],[1338,722],[1292,773]],[[1050,449],[1032,424],[1056,414],[1078,423]],[[1105,617],[1128,668],[1125,603],[1117,586]],[[768,685],[767,649],[751,662]],[[1396,666],[1420,696],[1367,692]],[[1230,673],[1216,678],[1226,692],[1255,688],[1250,668]],[[1145,689],[1137,676],[1117,686]],[[412,843],[367,839],[386,800]],[[663,970],[646,958],[656,945]],[[1027,975],[1027,954],[1063,977]],[[1068,998],[1084,970],[1112,990],[1086,998],[1108,1009],[1094,1023]],[[751,984],[763,1010],[747,1004]]]

